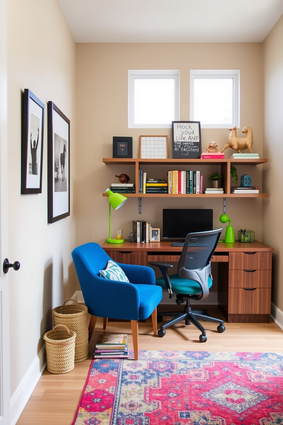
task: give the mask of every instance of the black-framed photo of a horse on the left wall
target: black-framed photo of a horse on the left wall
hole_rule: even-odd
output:
[[[48,102],[48,223],[70,215],[70,120]]]

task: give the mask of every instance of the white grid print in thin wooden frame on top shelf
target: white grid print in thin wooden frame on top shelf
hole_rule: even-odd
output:
[[[140,136],[140,158],[166,159],[168,136]]]

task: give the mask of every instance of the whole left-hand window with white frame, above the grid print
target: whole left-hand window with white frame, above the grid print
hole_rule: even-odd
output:
[[[129,70],[129,128],[171,128],[179,120],[179,71]]]

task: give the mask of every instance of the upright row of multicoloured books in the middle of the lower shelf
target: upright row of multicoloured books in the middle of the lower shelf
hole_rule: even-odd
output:
[[[202,193],[203,176],[195,170],[172,170],[167,173],[168,193]]]

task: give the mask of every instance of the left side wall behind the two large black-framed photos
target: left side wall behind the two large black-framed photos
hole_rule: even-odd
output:
[[[75,42],[56,0],[8,2],[8,258],[11,395],[52,328],[51,309],[75,291]],[[22,94],[30,89],[45,104],[42,193],[20,195]],[[47,102],[70,119],[70,217],[47,224]]]

